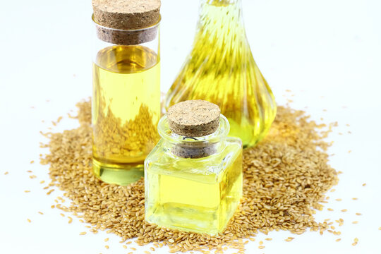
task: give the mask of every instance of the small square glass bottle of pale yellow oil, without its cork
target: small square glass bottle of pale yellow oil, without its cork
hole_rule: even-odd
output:
[[[226,138],[224,116],[219,123],[214,133],[190,138],[171,133],[167,116],[159,121],[162,139],[145,159],[147,222],[210,235],[224,231],[242,196],[242,143]],[[210,154],[185,158],[179,150],[181,156],[197,150]]]

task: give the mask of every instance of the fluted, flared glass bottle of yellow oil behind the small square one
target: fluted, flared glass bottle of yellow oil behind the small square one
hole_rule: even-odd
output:
[[[165,106],[188,99],[218,104],[229,120],[229,135],[241,138],[243,147],[264,138],[274,121],[276,103],[250,51],[241,0],[202,1],[193,49]]]

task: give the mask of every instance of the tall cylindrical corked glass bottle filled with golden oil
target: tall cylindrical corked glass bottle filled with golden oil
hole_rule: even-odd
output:
[[[144,159],[159,140],[160,16],[122,28],[120,19],[131,20],[130,13],[103,18],[107,8],[95,2],[92,166],[102,181],[126,185],[144,176]]]

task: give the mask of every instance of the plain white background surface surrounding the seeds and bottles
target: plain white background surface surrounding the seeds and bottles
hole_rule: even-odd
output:
[[[255,60],[277,102],[284,104],[282,95],[289,89],[295,94],[294,108],[308,106],[313,119],[339,122],[329,138],[334,140],[329,152],[336,154],[332,167],[344,174],[337,191],[329,193],[326,208],[334,212],[325,209],[316,218],[345,221],[339,243],[327,232],[308,232],[291,243],[284,241],[292,236],[289,232],[272,232],[259,234],[247,253],[381,253],[380,1],[243,0],[243,6]],[[49,179],[48,168],[37,163],[45,152],[39,142],[46,141],[39,131],[47,131],[50,121],[90,96],[91,13],[89,0],[1,3],[0,253],[131,251],[104,232],[79,236],[86,228],[78,219],[68,224],[60,210],[50,208],[60,192],[47,196],[39,184]],[[162,16],[162,90],[167,91],[193,42],[198,1],[163,0]],[[66,117],[56,130],[74,126]],[[37,179],[29,179],[27,170]],[[339,212],[344,208],[348,212]],[[354,220],[359,223],[351,224]],[[109,250],[104,248],[106,237]],[[258,242],[266,237],[273,240],[259,250]],[[359,241],[353,247],[355,237]],[[156,253],[167,253],[167,248]]]

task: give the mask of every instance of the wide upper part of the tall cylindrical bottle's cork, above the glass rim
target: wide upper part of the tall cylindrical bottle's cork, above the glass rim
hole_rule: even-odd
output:
[[[92,0],[95,22],[120,30],[155,25],[160,17],[160,5],[160,0]]]

